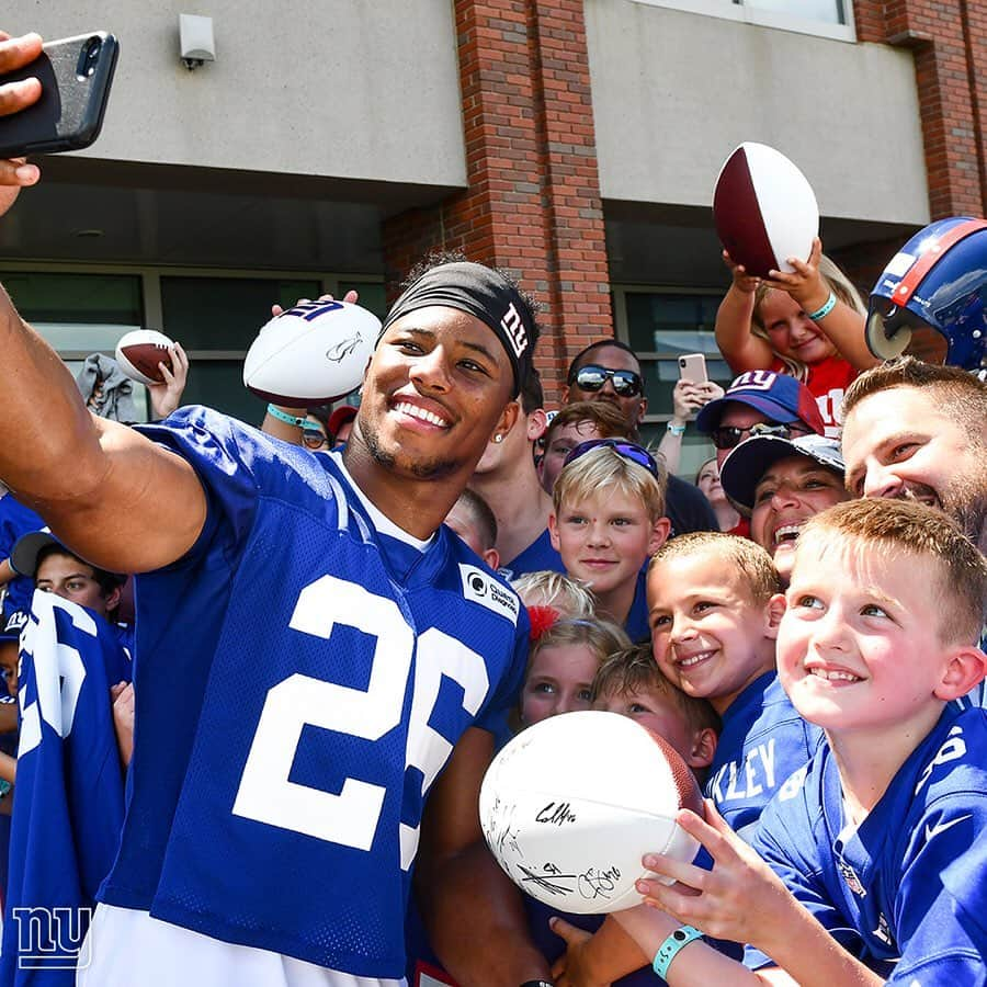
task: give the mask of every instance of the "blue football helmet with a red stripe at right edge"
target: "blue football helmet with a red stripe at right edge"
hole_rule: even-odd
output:
[[[940,219],[892,259],[871,292],[867,345],[890,360],[987,367],[987,220]]]

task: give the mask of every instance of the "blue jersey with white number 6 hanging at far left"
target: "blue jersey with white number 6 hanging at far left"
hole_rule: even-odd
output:
[[[75,956],[110,871],[124,782],[110,687],[131,662],[102,617],[36,592],[21,638],[21,737],[0,984],[75,983]]]

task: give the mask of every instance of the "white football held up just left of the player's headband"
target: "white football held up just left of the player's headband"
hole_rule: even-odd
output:
[[[243,360],[243,384],[279,405],[325,405],[355,390],[381,320],[349,302],[304,302],[275,316]]]

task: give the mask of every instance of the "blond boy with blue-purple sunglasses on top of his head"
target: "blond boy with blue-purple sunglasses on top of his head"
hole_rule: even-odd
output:
[[[597,612],[632,642],[648,637],[642,567],[668,537],[665,473],[632,442],[593,439],[566,457],[548,518],[566,575],[589,587]]]

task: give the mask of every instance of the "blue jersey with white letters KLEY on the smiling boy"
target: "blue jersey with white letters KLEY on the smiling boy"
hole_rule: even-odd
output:
[[[798,715],[775,672],[765,672],[723,714],[705,795],[749,842],[764,806],[822,739],[822,730]]]

